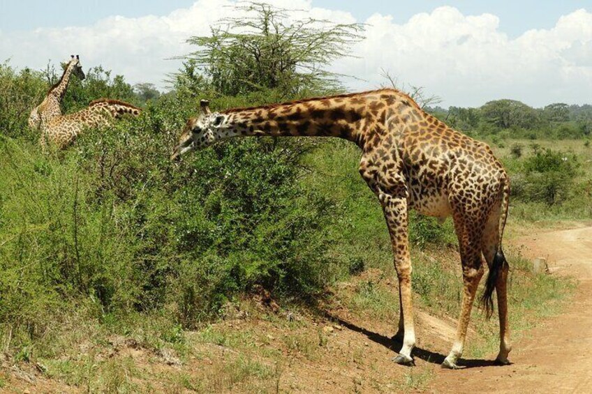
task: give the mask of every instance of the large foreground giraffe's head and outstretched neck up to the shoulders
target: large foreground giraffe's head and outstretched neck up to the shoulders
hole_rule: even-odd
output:
[[[407,123],[422,121],[427,125],[428,121],[436,121],[409,96],[394,89],[220,113],[212,113],[207,100],[202,100],[201,110],[201,116],[187,122],[173,158],[205,148],[219,139],[249,135],[340,137],[366,151],[383,138],[392,141],[394,135],[404,132]],[[394,132],[387,132],[388,129]]]

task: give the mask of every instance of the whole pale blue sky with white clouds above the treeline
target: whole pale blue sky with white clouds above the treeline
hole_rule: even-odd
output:
[[[443,105],[513,98],[533,106],[591,102],[592,0],[269,0],[334,22],[363,22],[367,38],[333,70],[350,91],[424,86]],[[0,61],[45,68],[69,54],[128,82],[153,82],[179,67],[188,36],[233,11],[234,0],[0,0]],[[121,17],[116,17],[119,15]]]

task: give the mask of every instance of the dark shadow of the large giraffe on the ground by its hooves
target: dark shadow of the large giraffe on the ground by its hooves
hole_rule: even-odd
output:
[[[395,349],[401,348],[401,341],[389,338],[385,335],[381,335],[378,333],[374,333],[372,331],[367,330],[366,328],[356,326],[355,324],[351,323],[350,321],[343,320],[339,317],[331,315],[329,312],[325,312],[325,317],[332,321],[338,322],[341,326],[348,328],[348,330],[355,331],[356,333],[360,333],[362,335],[366,335],[366,337],[375,342],[377,344],[381,344],[389,350],[397,352]],[[444,354],[435,353],[434,351],[430,351],[427,349],[423,349],[422,347],[414,347],[413,348],[413,356],[417,358],[421,358],[423,361],[432,364],[441,364],[443,363],[446,356]],[[479,360],[476,358],[461,358],[458,361],[458,365],[462,369],[466,368],[478,368],[478,367],[493,367],[497,364],[493,360]]]

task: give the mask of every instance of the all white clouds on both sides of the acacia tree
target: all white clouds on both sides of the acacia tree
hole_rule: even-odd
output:
[[[0,31],[0,54],[15,66],[44,68],[80,54],[85,68],[102,64],[129,82],[163,86],[180,61],[166,60],[191,51],[186,38],[207,35],[221,17],[238,15],[230,0],[199,0],[169,15],[108,17],[91,26],[66,29]],[[313,7],[311,0],[275,0],[302,15],[355,22],[350,13]],[[509,38],[495,15],[463,15],[456,8],[436,8],[404,24],[389,15],[369,17],[367,38],[353,47],[356,59],[333,68],[363,79],[347,80],[352,90],[385,83],[381,69],[400,82],[425,86],[445,105],[478,106],[495,98],[515,98],[542,106],[552,102],[584,103],[592,91],[592,13],[577,10],[558,18],[552,29],[526,31]]]

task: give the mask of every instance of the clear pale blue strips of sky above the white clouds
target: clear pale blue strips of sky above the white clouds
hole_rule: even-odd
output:
[[[93,24],[111,15],[166,15],[191,6],[193,0],[0,0],[0,4],[0,30],[19,31]],[[345,10],[358,20],[366,20],[373,13],[389,14],[399,23],[439,6],[453,6],[468,15],[497,15],[500,30],[515,37],[529,29],[548,29],[559,16],[579,8],[592,10],[592,0],[313,0],[313,6]]]

